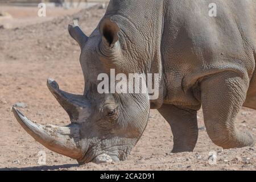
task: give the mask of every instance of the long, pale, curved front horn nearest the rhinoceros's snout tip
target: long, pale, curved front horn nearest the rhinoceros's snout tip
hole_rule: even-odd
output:
[[[23,129],[49,150],[72,159],[81,158],[79,125],[76,123],[72,123],[68,127],[39,125],[27,119],[15,107],[13,107],[13,113]]]

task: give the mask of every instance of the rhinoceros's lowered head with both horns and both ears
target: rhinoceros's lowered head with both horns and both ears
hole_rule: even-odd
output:
[[[48,79],[47,86],[67,111],[71,124],[65,127],[39,125],[15,107],[13,113],[38,142],[49,150],[77,159],[80,164],[92,162],[102,154],[114,161],[124,160],[146,128],[150,101],[147,94],[98,92],[97,77],[101,73],[109,75],[112,68],[124,74],[131,71],[129,68],[135,70],[134,65],[127,66],[129,53],[122,48],[125,45],[118,35],[119,27],[105,18],[89,37],[81,31],[77,21],[68,29],[81,47],[84,94],[64,92],[52,79]]]

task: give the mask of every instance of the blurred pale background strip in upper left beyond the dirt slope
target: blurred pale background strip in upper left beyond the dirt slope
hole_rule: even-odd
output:
[[[0,0],[0,28],[41,23],[95,5],[101,5],[104,9],[107,2],[108,0]],[[38,16],[39,3],[46,5],[46,16],[43,18]]]

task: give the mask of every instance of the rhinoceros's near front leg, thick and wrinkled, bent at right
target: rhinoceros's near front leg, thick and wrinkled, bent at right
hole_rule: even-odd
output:
[[[223,148],[252,146],[249,133],[240,132],[235,120],[246,98],[249,79],[235,72],[222,72],[201,81],[201,102],[207,133]]]

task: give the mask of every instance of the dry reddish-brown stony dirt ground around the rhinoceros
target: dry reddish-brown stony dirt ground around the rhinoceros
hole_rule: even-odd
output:
[[[210,141],[201,111],[199,139],[194,152],[170,153],[171,129],[156,110],[151,111],[146,131],[125,162],[78,166],[76,160],[47,150],[22,129],[10,107],[16,102],[24,102],[27,107],[20,110],[38,123],[69,124],[68,115],[48,91],[46,80],[53,77],[61,89],[77,94],[83,92],[80,50],[69,37],[67,26],[73,17],[79,17],[82,29],[89,35],[105,10],[97,6],[79,13],[58,9],[55,16],[61,16],[42,20],[36,18],[36,11],[31,9],[1,9],[19,19],[10,21],[14,28],[0,29],[0,170],[256,169],[255,148],[222,150]],[[75,14],[71,15],[70,11]],[[34,23],[29,20],[31,16]],[[237,118],[237,127],[250,131],[256,138],[256,111],[243,108]],[[46,152],[44,166],[38,164],[39,151]],[[210,151],[217,152],[217,164],[209,164]]]

